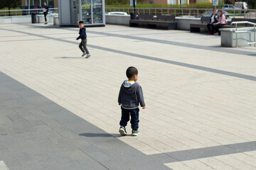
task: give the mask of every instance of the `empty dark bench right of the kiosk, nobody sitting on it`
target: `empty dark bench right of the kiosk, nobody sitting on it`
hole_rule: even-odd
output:
[[[156,16],[153,15],[138,15],[137,19],[129,21],[130,27],[146,26],[146,28],[163,27],[168,30],[176,30],[177,23],[175,22],[175,16]]]

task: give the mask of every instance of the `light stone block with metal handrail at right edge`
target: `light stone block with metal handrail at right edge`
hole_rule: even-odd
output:
[[[253,27],[238,28],[239,31],[254,31]],[[221,47],[236,47],[235,28],[221,28]],[[238,33],[238,47],[254,46],[248,42],[254,42],[254,33]]]

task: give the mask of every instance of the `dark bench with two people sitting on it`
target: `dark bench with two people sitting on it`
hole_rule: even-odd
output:
[[[210,21],[210,17],[208,17],[208,16],[202,16],[200,21],[201,21],[202,23],[191,23],[191,24],[190,24],[191,33],[192,33],[192,32],[200,32],[200,28],[205,28],[205,29],[207,29],[207,24],[208,24],[209,21]],[[249,21],[249,22],[252,22],[252,23],[256,23],[256,19],[249,19],[249,18],[232,18],[232,19],[231,19],[231,23],[232,23],[232,22],[236,22],[236,21]],[[248,26],[250,26],[250,25],[248,25]],[[241,28],[241,27],[247,27],[247,23],[245,23],[245,24],[239,24],[238,27],[239,27],[239,28]],[[225,25],[223,25],[223,26],[220,26],[220,28],[235,28],[235,25],[225,24]]]

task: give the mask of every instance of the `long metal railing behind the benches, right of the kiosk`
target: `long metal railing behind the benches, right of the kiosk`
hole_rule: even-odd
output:
[[[174,16],[187,16],[187,17],[196,17],[206,15],[208,12],[212,11],[212,8],[135,8],[137,14],[152,14],[152,15],[174,15]],[[228,13],[229,17],[233,18],[256,18],[256,9],[250,9],[250,12],[246,10],[233,9],[225,10]],[[106,7],[106,13],[108,12],[126,12],[133,13],[134,8],[121,8],[121,7]]]

